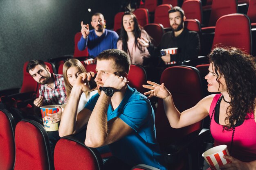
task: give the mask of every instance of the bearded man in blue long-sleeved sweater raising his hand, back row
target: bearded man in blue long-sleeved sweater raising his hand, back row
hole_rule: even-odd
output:
[[[89,31],[89,24],[81,22],[82,37],[77,44],[79,50],[85,50],[88,46],[88,52],[94,59],[104,50],[117,48],[119,36],[115,31],[106,29],[106,20],[101,13],[94,13],[91,21],[93,30]]]

